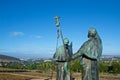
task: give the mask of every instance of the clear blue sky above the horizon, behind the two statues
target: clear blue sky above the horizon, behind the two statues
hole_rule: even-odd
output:
[[[0,0],[0,53],[52,57],[54,17],[59,15],[63,36],[73,42],[74,52],[88,39],[88,29],[95,27],[103,54],[120,55],[119,4],[119,0]]]

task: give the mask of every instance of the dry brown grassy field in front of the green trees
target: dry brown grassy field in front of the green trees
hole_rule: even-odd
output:
[[[0,68],[0,70],[12,70],[8,68]],[[13,69],[14,70],[14,69]],[[0,72],[0,80],[32,80],[40,79],[44,80],[45,78],[50,78],[51,73],[39,73],[35,71],[31,72]],[[55,80],[56,73],[53,73],[53,80]],[[120,80],[120,74],[109,74],[109,73],[100,73],[99,80]],[[73,73],[72,77],[76,80],[81,80],[81,73]]]

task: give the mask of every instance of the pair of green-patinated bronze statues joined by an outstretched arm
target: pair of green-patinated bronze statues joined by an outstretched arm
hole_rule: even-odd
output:
[[[99,80],[98,77],[98,61],[102,55],[102,41],[95,28],[88,31],[88,40],[73,55],[72,43],[69,44],[67,38],[63,38],[60,29],[59,16],[56,16],[57,44],[56,52],[53,56],[57,65],[56,80],[71,80],[69,61],[80,58],[82,65],[82,80]],[[63,45],[58,46],[58,39],[61,37]]]

